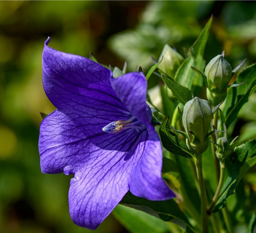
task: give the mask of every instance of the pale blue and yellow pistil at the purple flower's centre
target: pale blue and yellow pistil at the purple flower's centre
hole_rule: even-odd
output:
[[[118,133],[122,129],[134,128],[138,133],[146,129],[146,124],[139,122],[134,116],[126,121],[117,121],[107,124],[102,130],[105,133]]]

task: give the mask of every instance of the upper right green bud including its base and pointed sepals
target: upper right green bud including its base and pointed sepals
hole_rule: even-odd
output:
[[[244,65],[246,59],[235,69],[225,60],[224,52],[217,55],[208,63],[205,68],[207,78],[207,98],[213,104],[217,105],[227,97],[227,88],[237,87],[241,84],[230,85],[233,74]]]

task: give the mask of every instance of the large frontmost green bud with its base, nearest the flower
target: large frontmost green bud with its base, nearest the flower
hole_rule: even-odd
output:
[[[202,154],[208,147],[206,135],[212,119],[213,112],[207,100],[195,97],[186,102],[182,121],[188,135],[187,145],[195,154]]]

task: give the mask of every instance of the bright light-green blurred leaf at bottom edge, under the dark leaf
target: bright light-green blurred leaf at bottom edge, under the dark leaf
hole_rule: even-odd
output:
[[[112,213],[131,233],[171,233],[167,222],[145,212],[118,205]]]

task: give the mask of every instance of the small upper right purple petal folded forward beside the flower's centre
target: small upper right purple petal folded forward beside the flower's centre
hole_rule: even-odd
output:
[[[111,78],[112,87],[127,109],[139,121],[151,122],[151,111],[146,104],[147,82],[142,72],[132,72]]]

